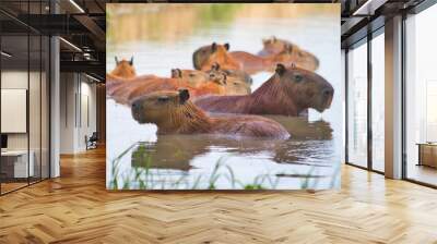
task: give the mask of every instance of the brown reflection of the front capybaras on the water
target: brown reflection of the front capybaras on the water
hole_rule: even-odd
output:
[[[330,161],[332,130],[328,122],[307,122],[304,118],[270,117],[282,122],[292,138],[287,141],[235,139],[217,135],[160,135],[156,143],[143,142],[132,150],[132,166],[156,169],[191,169],[193,158],[209,151],[253,156],[264,151],[265,159],[279,163],[323,167]]]

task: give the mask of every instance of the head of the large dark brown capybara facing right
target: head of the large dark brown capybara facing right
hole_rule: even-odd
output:
[[[285,68],[279,63],[274,82],[281,84],[287,97],[299,108],[314,108],[323,112],[331,106],[334,89],[322,76],[292,65]]]

